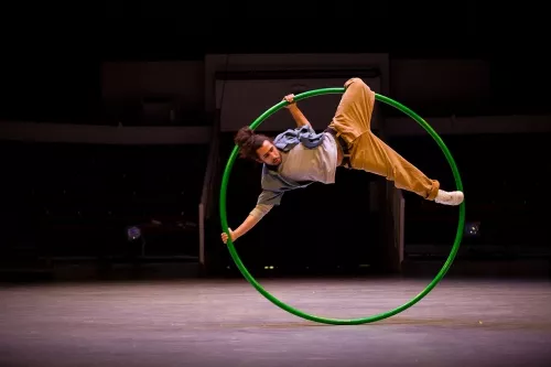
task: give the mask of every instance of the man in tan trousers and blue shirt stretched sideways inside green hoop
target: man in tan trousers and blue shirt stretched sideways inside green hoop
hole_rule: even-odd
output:
[[[296,129],[289,129],[276,139],[241,128],[235,138],[244,159],[263,163],[262,193],[257,206],[245,222],[230,231],[235,241],[281,203],[287,191],[303,188],[313,182],[335,183],[337,166],[363,170],[393,181],[396,187],[413,192],[439,204],[460,205],[462,192],[440,190],[436,180],[429,179],[414,165],[377,138],[370,130],[375,93],[359,78],[345,83],[335,116],[327,129],[316,133],[309,120],[293,101],[293,95],[284,99],[296,121]],[[228,236],[222,234],[226,244]]]

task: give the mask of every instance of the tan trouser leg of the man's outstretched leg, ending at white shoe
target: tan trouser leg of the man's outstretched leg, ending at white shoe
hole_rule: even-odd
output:
[[[439,194],[440,183],[436,180],[429,179],[371,131],[361,134],[354,142],[350,161],[353,169],[385,176],[393,181],[396,187],[426,199],[433,201]]]

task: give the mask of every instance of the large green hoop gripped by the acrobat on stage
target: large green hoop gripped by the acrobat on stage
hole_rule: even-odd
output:
[[[314,97],[314,96],[320,96],[320,95],[327,95],[327,94],[343,94],[344,91],[345,91],[345,88],[321,88],[321,89],[314,89],[314,90],[309,90],[309,91],[305,91],[305,93],[296,95],[294,97],[294,100],[299,101],[299,100],[302,100],[302,99],[305,99],[305,98],[310,98],[310,97]],[[442,139],[440,138],[440,136],[431,128],[431,126],[426,121],[424,121],[423,118],[421,118],[419,115],[417,115],[415,112],[413,112],[408,107],[401,105],[400,102],[398,102],[398,101],[396,101],[396,100],[393,100],[391,98],[381,96],[379,94],[376,94],[375,97],[376,97],[377,100],[386,102],[386,104],[388,104],[388,105],[390,105],[390,106],[392,106],[392,107],[401,110],[402,112],[404,112],[409,117],[411,117],[419,125],[421,125],[421,127],[423,127],[431,134],[432,138],[434,138],[434,140],[436,141],[436,143],[441,148],[442,152],[444,153],[445,158],[447,159],[447,162],[450,163],[450,166],[452,168],[452,172],[453,172],[453,176],[454,176],[457,190],[463,191],[463,184],[462,184],[462,181],[461,181],[460,172],[457,170],[457,165],[455,164],[455,161],[452,158],[452,154],[450,153],[450,150],[444,144],[444,142],[442,141]],[[262,121],[264,121],[268,117],[270,117],[271,115],[273,115],[274,112],[277,112],[278,110],[280,110],[281,108],[283,108],[285,105],[288,105],[288,102],[284,101],[284,100],[282,100],[279,104],[274,105],[273,107],[271,107],[270,109],[268,109],[267,111],[264,111],[262,115],[260,115],[250,125],[250,128],[255,130]],[[234,151],[231,152],[231,155],[230,155],[227,164],[226,164],[226,171],[224,172],[224,176],[223,176],[223,180],[222,180],[222,187],[220,187],[219,209],[220,209],[222,228],[223,228],[224,233],[226,233],[228,235],[229,235],[229,229],[228,229],[228,223],[227,223],[227,216],[226,216],[226,191],[227,191],[227,186],[228,186],[229,174],[230,174],[231,169],[234,166],[234,162],[236,161],[237,154],[238,154],[238,147],[236,145],[234,148]],[[462,237],[463,237],[464,225],[465,225],[465,202],[463,202],[460,205],[460,219],[458,219],[458,224],[457,224],[457,233],[455,235],[454,245],[452,247],[450,256],[447,257],[447,260],[445,261],[444,266],[439,271],[439,273],[436,274],[436,277],[431,281],[431,283],[421,293],[419,293],[418,295],[415,295],[414,298],[412,298],[407,303],[404,303],[404,304],[402,304],[402,305],[400,305],[400,306],[398,306],[398,307],[396,307],[393,310],[390,310],[390,311],[387,311],[387,312],[383,312],[383,313],[380,313],[380,314],[376,314],[376,315],[372,315],[372,316],[368,316],[368,317],[350,319],[350,320],[327,319],[327,317],[311,315],[311,314],[304,313],[304,312],[302,312],[300,310],[296,310],[296,309],[294,309],[294,307],[292,307],[292,306],[290,306],[290,305],[281,302],[280,300],[278,300],[277,298],[274,298],[272,294],[270,294],[269,292],[267,292],[255,280],[255,278],[252,278],[252,276],[249,273],[249,271],[247,270],[247,268],[244,266],[244,263],[239,259],[239,256],[237,255],[236,249],[234,247],[234,244],[233,244],[233,241],[230,239],[228,239],[227,246],[229,248],[229,252],[231,255],[231,258],[236,262],[237,267],[239,268],[239,270],[241,271],[241,273],[244,274],[244,277],[249,281],[249,283],[252,284],[252,287],[255,287],[255,289],[260,294],[262,294],[264,298],[267,298],[270,302],[272,302],[277,306],[279,306],[279,307],[283,309],[284,311],[287,311],[287,312],[289,312],[291,314],[294,314],[294,315],[296,315],[299,317],[302,317],[302,319],[305,319],[305,320],[310,320],[310,321],[314,321],[314,322],[318,322],[318,323],[323,323],[323,324],[332,324],[332,325],[359,325],[359,324],[372,323],[372,322],[376,322],[376,321],[380,321],[380,320],[393,316],[393,315],[396,315],[396,314],[398,314],[398,313],[400,313],[400,312],[402,312],[402,311],[411,307],[413,304],[418,303],[419,301],[421,301],[421,299],[423,299],[426,294],[429,294],[429,292],[432,291],[432,289],[434,287],[436,287],[436,284],[442,280],[442,278],[444,278],[444,276],[449,271],[450,267],[452,266],[452,262],[455,259],[455,256],[456,256],[456,253],[457,253],[457,251],[460,249],[460,245],[461,245]]]

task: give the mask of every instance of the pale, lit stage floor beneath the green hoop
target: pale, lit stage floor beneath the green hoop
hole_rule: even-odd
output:
[[[426,280],[259,279],[325,317],[368,316]],[[0,366],[550,366],[549,281],[444,279],[383,321],[299,319],[245,279],[6,285]]]

